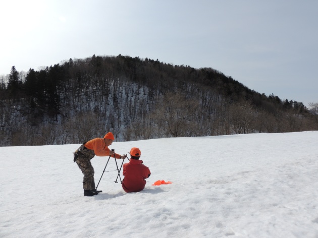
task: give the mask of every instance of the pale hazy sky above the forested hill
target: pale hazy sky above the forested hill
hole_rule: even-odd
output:
[[[259,93],[318,102],[316,0],[11,0],[0,9],[0,75],[122,54],[213,68]]]

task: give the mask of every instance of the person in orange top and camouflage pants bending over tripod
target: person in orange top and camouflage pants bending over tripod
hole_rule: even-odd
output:
[[[83,189],[84,196],[94,196],[101,191],[96,191],[94,181],[94,168],[90,160],[95,156],[111,156],[116,159],[125,159],[127,155],[116,154],[108,147],[112,145],[115,140],[113,133],[107,133],[103,138],[95,138],[83,143],[74,152],[74,162],[84,174]]]

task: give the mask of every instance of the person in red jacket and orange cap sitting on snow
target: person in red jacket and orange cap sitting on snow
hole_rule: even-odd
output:
[[[123,165],[123,175],[125,176],[122,182],[122,187],[126,193],[140,192],[145,188],[145,178],[150,176],[150,170],[143,165],[143,161],[139,160],[141,152],[138,148],[133,147],[130,150],[129,163]]]

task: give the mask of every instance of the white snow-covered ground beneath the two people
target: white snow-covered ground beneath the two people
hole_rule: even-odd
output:
[[[111,159],[94,197],[79,145],[0,147],[0,237],[316,238],[317,142],[317,131],[115,142],[139,147],[152,174],[127,194]],[[107,159],[91,160],[96,185]]]

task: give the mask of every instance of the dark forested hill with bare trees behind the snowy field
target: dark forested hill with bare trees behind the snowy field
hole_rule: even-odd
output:
[[[95,56],[0,78],[0,146],[318,130],[301,102],[211,69]]]

